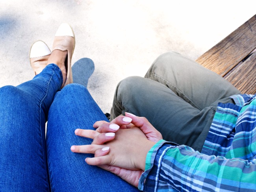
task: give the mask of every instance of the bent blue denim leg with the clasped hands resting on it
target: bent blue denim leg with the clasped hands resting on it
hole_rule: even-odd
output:
[[[46,148],[52,191],[138,191],[120,177],[86,164],[86,157],[70,151],[72,145],[91,144],[92,139],[74,134],[75,129],[94,129],[98,120],[108,121],[88,90],[70,84],[56,94],[47,124]],[[95,129],[94,129],[95,130]]]

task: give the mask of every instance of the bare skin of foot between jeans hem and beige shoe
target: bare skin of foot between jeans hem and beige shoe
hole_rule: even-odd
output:
[[[61,85],[61,88],[64,87],[64,84],[66,83],[66,80],[67,80],[67,68],[65,66],[67,54],[68,54],[67,51],[61,51],[57,49],[53,50],[52,54],[50,55],[47,61],[47,65],[54,63],[58,65],[58,67],[60,68],[63,76],[63,83]]]

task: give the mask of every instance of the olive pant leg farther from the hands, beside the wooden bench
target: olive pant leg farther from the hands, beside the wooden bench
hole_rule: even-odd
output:
[[[160,55],[145,78],[165,85],[200,110],[218,102],[232,103],[229,97],[240,94],[226,79],[175,52]]]

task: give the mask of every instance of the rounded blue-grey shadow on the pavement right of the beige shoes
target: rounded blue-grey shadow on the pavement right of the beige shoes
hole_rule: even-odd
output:
[[[73,82],[87,87],[88,80],[95,69],[93,60],[82,58],[72,66]]]

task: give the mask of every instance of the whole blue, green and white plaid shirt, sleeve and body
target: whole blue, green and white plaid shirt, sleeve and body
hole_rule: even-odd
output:
[[[143,191],[256,191],[256,95],[219,103],[201,153],[165,140],[147,154]]]

